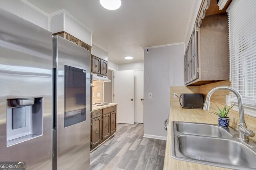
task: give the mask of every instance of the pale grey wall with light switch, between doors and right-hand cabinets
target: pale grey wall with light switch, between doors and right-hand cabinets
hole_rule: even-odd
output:
[[[184,44],[144,50],[144,135],[164,136],[170,113],[170,86],[184,85]],[[148,98],[148,93],[152,98]]]

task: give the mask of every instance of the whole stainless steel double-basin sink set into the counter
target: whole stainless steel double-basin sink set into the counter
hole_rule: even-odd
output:
[[[256,169],[256,148],[240,142],[233,128],[172,121],[172,157],[188,162]]]

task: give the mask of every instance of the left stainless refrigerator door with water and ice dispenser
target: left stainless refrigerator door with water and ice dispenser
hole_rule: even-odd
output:
[[[52,33],[0,9],[0,161],[52,168]]]

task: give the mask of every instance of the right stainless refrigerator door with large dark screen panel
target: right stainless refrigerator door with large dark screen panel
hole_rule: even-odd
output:
[[[54,36],[53,168],[90,169],[90,51]]]

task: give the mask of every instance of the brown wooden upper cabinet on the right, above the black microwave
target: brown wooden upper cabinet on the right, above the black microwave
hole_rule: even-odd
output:
[[[186,85],[229,79],[227,13],[215,12],[216,0],[202,0],[184,55]]]

